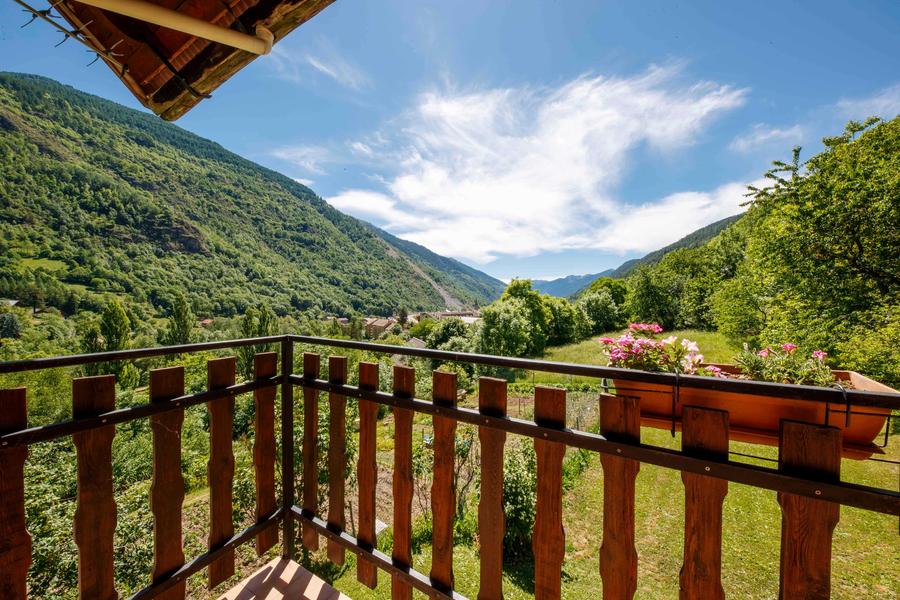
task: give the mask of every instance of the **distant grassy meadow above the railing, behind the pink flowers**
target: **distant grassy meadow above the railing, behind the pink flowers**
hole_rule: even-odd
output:
[[[603,354],[603,346],[597,342],[598,337],[617,337],[621,332],[609,332],[582,342],[568,344],[566,346],[554,346],[544,352],[544,360],[556,362],[570,362],[584,365],[605,365],[606,356]],[[677,335],[679,338],[687,338],[697,342],[707,362],[730,363],[740,350],[739,346],[732,344],[721,333],[715,331],[700,331],[697,329],[680,329],[666,332],[665,335]],[[592,377],[580,377],[559,375],[556,373],[540,373],[528,371],[518,379],[522,382],[537,384],[566,384],[566,383],[596,383]]]

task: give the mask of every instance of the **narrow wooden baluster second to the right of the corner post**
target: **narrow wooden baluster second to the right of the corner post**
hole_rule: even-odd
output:
[[[347,359],[328,358],[328,381],[336,385],[347,382]],[[344,517],[344,472],[347,469],[347,398],[328,394],[328,524],[338,529],[346,525]],[[344,564],[344,547],[328,540],[328,559]]]

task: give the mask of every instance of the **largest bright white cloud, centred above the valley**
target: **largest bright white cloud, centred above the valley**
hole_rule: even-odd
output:
[[[500,254],[658,247],[737,212],[731,188],[669,196],[637,213],[615,197],[635,150],[689,146],[745,101],[744,89],[683,84],[678,75],[677,67],[653,67],[558,88],[422,94],[380,149],[375,179],[384,188],[346,190],[329,202],[479,263]],[[667,210],[691,214],[661,218]]]

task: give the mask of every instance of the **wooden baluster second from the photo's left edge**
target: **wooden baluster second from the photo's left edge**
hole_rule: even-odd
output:
[[[72,414],[93,417],[111,411],[116,403],[113,375],[72,381]],[[116,501],[113,498],[112,440],[115,425],[103,425],[72,435],[78,455],[78,504],[75,544],[78,546],[78,595],[82,600],[116,600],[113,581],[113,536]]]

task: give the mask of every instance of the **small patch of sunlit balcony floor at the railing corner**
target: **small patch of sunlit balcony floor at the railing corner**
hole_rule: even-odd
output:
[[[351,600],[292,560],[276,558],[219,600]]]

